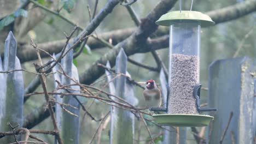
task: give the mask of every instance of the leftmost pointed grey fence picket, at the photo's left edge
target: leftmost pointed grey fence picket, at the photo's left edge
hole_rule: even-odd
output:
[[[17,41],[14,38],[12,32],[9,32],[4,45],[4,62],[3,70],[21,69],[19,58],[16,57]],[[23,97],[24,97],[24,82],[21,71],[15,71],[7,74],[3,74],[4,81],[2,81],[1,89],[4,89],[4,94],[0,95],[1,109],[3,109],[3,115],[1,120],[1,131],[10,131],[11,128],[7,125],[10,122],[15,126],[19,124],[22,127],[23,121]],[[1,77],[2,77],[1,76]],[[2,138],[1,143],[14,142],[13,136],[6,136]]]

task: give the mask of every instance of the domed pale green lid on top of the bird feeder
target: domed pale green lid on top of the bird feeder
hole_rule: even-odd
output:
[[[214,21],[212,21],[211,17],[203,14],[199,11],[171,11],[167,14],[164,14],[160,17],[158,21],[156,21],[156,25],[160,26],[171,26],[175,23],[181,23],[181,21],[199,21],[201,23],[201,27],[213,26]]]

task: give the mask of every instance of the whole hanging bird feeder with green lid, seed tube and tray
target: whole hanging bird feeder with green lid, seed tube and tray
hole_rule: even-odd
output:
[[[198,11],[171,11],[156,24],[170,26],[170,44],[166,108],[150,109],[166,114],[153,115],[155,121],[176,127],[208,125],[213,117],[200,113],[217,109],[200,107],[200,33],[201,27],[212,26],[214,22]]]

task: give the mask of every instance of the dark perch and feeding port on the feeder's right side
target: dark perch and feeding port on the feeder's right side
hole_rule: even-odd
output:
[[[200,107],[200,91],[201,91],[201,83],[197,84],[195,87],[194,87],[194,90],[193,90],[193,95],[196,99],[196,108],[197,108],[197,111],[200,113],[200,112],[203,112],[203,111],[217,111],[217,109],[213,109],[213,108],[201,108]]]

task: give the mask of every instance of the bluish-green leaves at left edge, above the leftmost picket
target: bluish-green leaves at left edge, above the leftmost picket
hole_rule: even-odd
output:
[[[1,21],[0,21],[0,30],[3,29],[3,27],[10,25],[11,22],[15,20],[15,17],[27,17],[27,10],[24,9],[18,9],[14,11],[13,14],[10,14],[8,16],[5,16]]]

